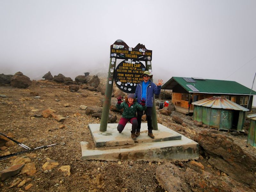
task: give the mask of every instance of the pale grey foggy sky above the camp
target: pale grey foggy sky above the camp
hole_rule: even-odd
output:
[[[1,0],[0,73],[107,73],[110,45],[122,39],[153,51],[155,81],[202,77],[251,89],[255,20],[255,0]]]

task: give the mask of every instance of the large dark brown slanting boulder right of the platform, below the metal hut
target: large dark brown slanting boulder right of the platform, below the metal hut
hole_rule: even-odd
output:
[[[243,182],[256,190],[256,158],[247,154],[231,138],[202,131],[194,138],[210,156],[208,163],[234,180]],[[241,177],[243,175],[243,177]]]

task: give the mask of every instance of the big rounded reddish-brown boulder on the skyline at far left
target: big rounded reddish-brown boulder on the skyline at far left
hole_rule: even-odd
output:
[[[32,84],[28,76],[23,75],[21,72],[17,72],[11,78],[11,86],[17,88],[27,88]]]

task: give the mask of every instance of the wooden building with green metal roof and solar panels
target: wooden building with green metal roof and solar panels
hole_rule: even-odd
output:
[[[245,108],[249,103],[248,109],[251,110],[252,97],[256,95],[255,91],[251,92],[251,89],[235,81],[197,77],[172,77],[162,86],[162,89],[172,90],[172,102],[183,108],[188,108],[190,98],[194,102],[212,96],[222,96]]]

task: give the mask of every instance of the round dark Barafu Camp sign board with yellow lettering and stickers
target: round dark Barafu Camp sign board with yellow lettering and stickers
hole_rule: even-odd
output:
[[[116,86],[126,93],[134,93],[136,86],[143,78],[140,77],[146,70],[145,66],[137,60],[123,60],[115,70],[114,80]]]

